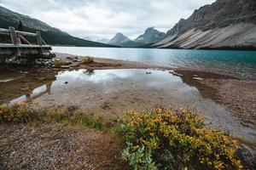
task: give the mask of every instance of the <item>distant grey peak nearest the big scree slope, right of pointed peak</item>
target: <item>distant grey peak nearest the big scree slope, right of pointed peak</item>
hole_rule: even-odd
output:
[[[166,33],[160,32],[154,29],[154,27],[149,27],[143,35],[140,35],[135,39],[135,42],[141,42],[143,45],[151,44],[154,42],[159,42],[166,36]]]

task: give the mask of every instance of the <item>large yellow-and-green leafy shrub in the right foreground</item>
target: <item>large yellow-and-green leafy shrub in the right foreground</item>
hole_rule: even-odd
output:
[[[209,129],[193,112],[156,108],[121,120],[123,158],[133,169],[241,169],[236,140]]]

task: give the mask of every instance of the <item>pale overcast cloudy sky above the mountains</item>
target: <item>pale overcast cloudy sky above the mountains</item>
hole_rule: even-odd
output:
[[[0,5],[76,37],[135,38],[149,26],[167,31],[215,0],[0,0]]]

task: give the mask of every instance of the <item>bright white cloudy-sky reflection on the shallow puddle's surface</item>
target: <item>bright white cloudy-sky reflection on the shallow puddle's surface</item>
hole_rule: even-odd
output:
[[[61,88],[73,89],[94,84],[94,87],[102,89],[104,92],[113,90],[129,89],[130,84],[137,84],[137,88],[160,88],[172,92],[172,95],[180,95],[186,91],[196,91],[196,88],[185,85],[180,77],[174,77],[167,71],[151,71],[150,75],[146,74],[147,70],[101,70],[88,71],[80,69],[78,71],[60,71],[55,76],[55,81],[46,81],[44,85],[38,88],[28,88],[26,93],[20,91],[19,98],[10,101],[15,102],[36,99],[44,94],[55,95],[55,91]],[[32,82],[33,83],[33,82]],[[7,93],[7,92],[6,92]]]

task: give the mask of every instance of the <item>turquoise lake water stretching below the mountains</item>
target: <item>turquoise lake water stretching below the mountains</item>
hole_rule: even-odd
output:
[[[256,51],[53,47],[53,52],[125,59],[256,79]]]

